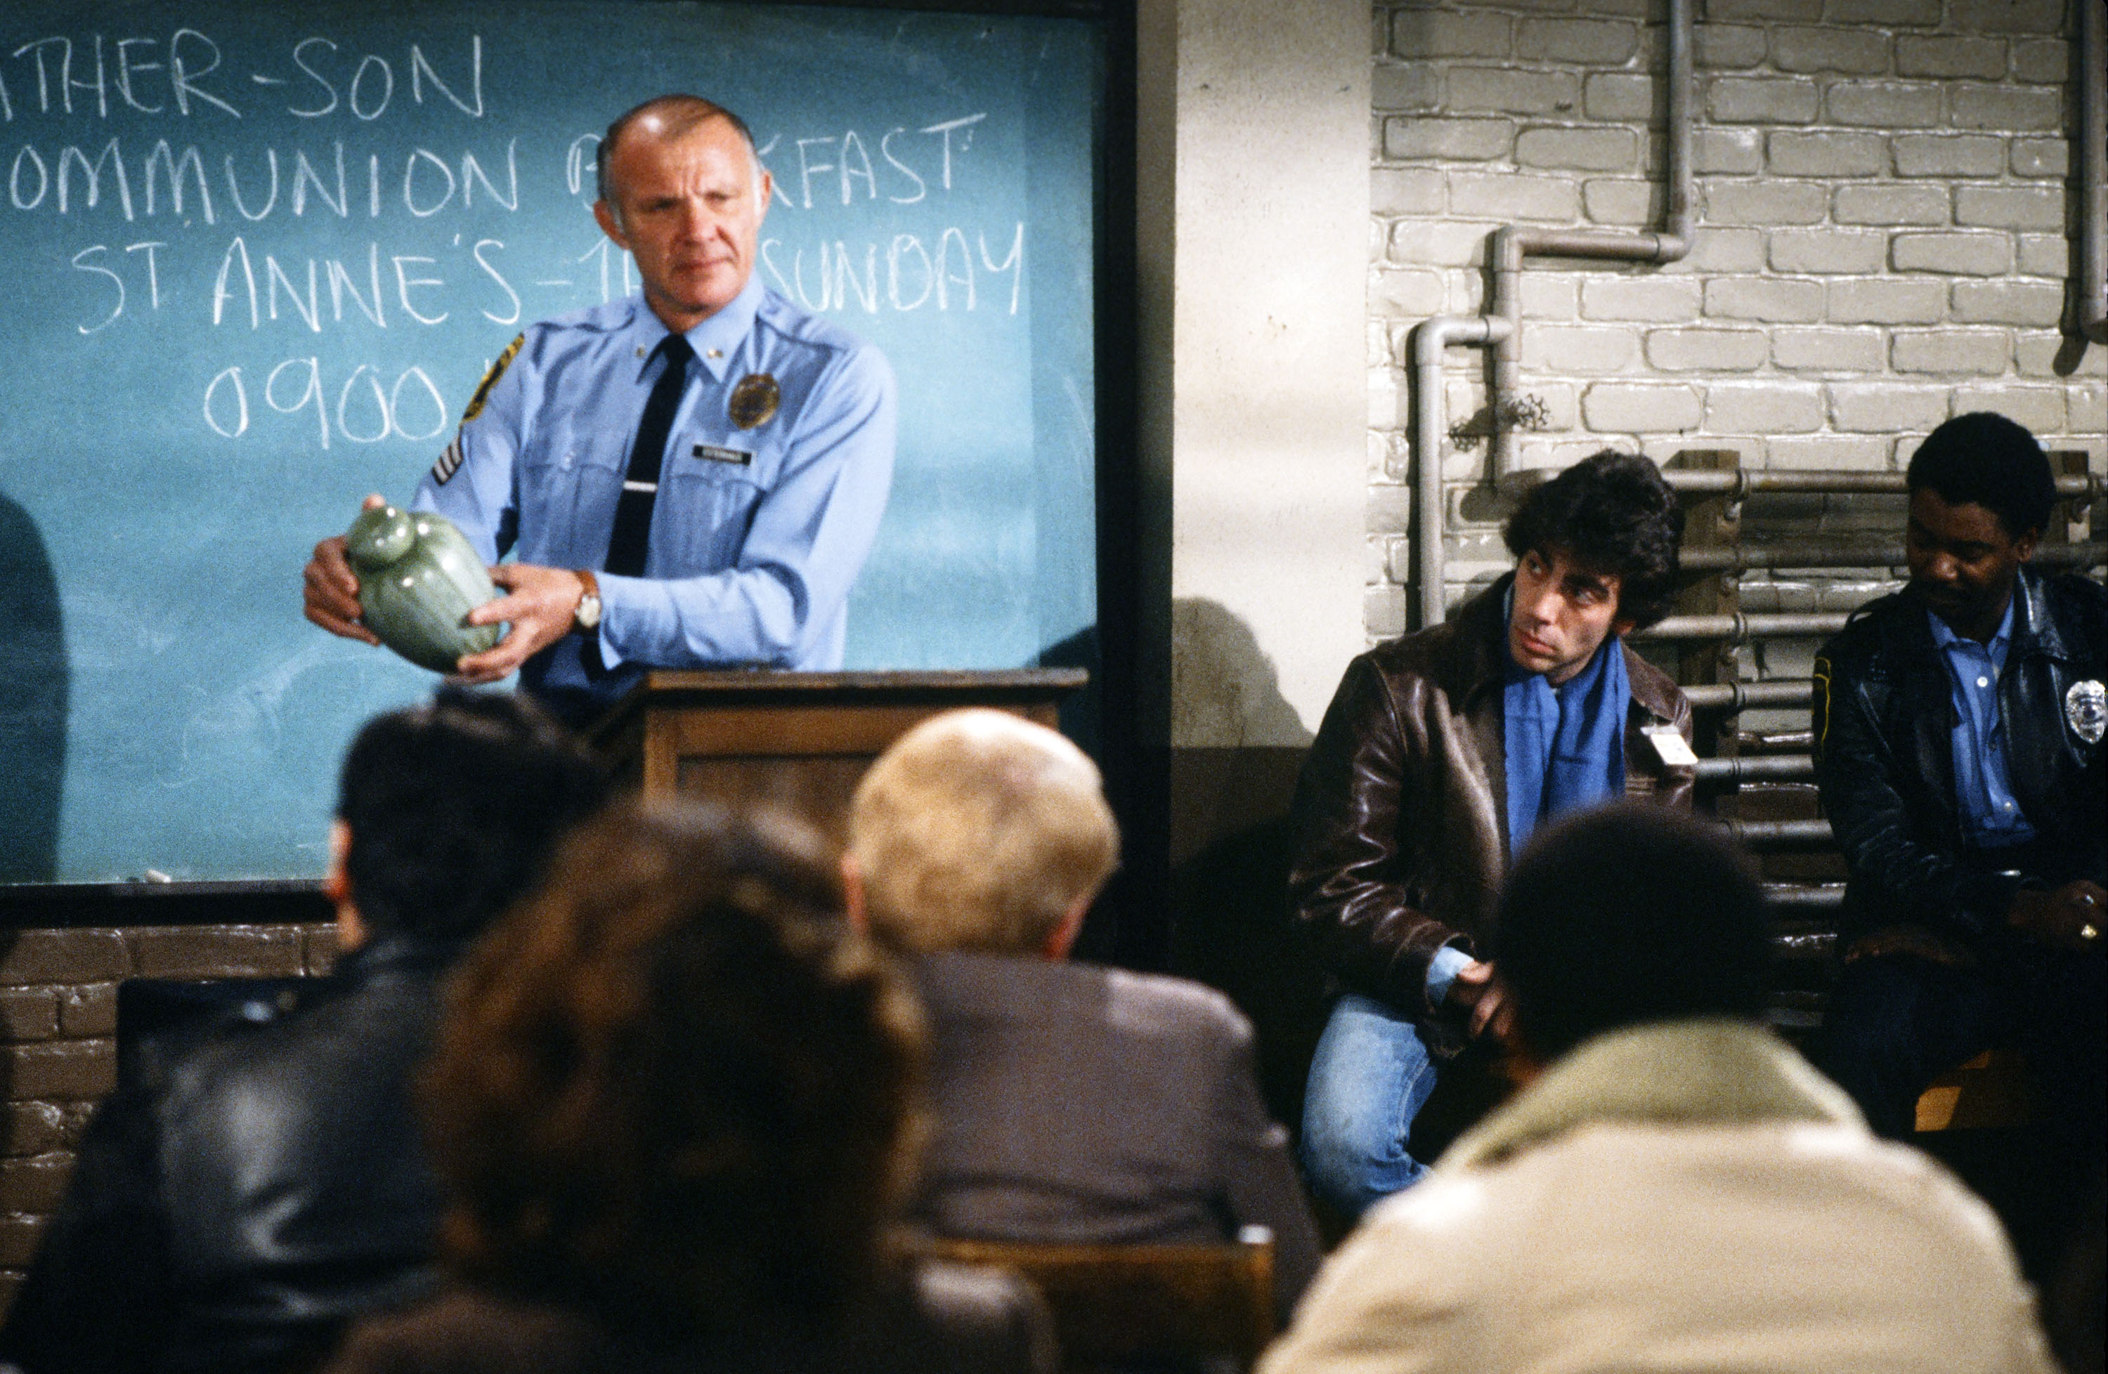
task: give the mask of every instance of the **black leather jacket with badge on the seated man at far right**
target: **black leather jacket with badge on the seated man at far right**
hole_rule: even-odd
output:
[[[1842,938],[1908,923],[1965,948],[2000,942],[2022,883],[2108,877],[2104,746],[2068,708],[2108,676],[2108,592],[2078,575],[2019,571],[1998,676],[2013,797],[2034,826],[2032,870],[1965,851],[1954,801],[1954,691],[1908,592],[1882,596],[1815,657],[1815,780],[1851,864]],[[2087,689],[2081,687],[2081,695]]]

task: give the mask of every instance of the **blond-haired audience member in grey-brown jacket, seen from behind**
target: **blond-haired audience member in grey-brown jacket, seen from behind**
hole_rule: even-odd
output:
[[[850,809],[850,912],[913,950],[934,1138],[913,1216],[1012,1241],[1275,1239],[1290,1307],[1315,1224],[1218,993],[1065,963],[1119,851],[1098,769],[1052,729],[957,710],[909,731]]]

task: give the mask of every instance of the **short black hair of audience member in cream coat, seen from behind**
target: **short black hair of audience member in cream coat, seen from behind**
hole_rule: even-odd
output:
[[[1516,860],[1495,959],[1516,1030],[1547,1064],[1623,1026],[1756,1020],[1771,969],[1764,891],[1718,826],[1642,803],[1581,811]]]

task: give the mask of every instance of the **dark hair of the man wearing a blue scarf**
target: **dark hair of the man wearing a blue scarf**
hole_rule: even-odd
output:
[[[1503,531],[1507,552],[1562,550],[1596,573],[1615,573],[1617,615],[1644,630],[1676,603],[1684,508],[1653,459],[1604,449],[1524,497]]]

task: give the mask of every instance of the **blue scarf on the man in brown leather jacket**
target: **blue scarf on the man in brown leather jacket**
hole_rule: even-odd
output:
[[[1501,634],[1507,657],[1507,634]],[[1507,853],[1541,820],[1625,794],[1625,702],[1632,683],[1617,634],[1587,668],[1554,687],[1543,672],[1507,660],[1501,706],[1507,727]]]

